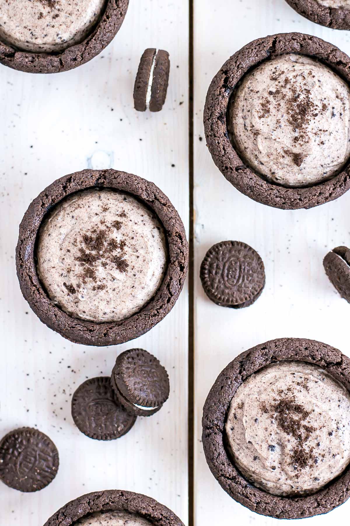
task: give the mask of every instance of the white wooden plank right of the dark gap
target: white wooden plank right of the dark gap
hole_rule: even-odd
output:
[[[206,148],[203,107],[209,83],[236,50],[254,38],[299,31],[350,53],[349,32],[306,21],[284,0],[195,0],[195,510],[196,526],[277,526],[222,490],[207,467],[201,412],[219,372],[240,352],[279,337],[324,341],[350,356],[350,307],[326,278],[322,260],[350,242],[350,194],[312,210],[283,211],[254,203],[220,174]],[[245,241],[266,266],[266,288],[247,309],[218,307],[205,296],[199,266],[215,242]],[[348,524],[350,501],[331,514],[304,519],[312,526]],[[283,521],[285,522],[285,521]]]

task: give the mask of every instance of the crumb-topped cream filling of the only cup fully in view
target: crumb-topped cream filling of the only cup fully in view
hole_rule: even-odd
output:
[[[163,280],[167,248],[156,215],[129,194],[78,192],[41,225],[37,271],[48,296],[71,316],[129,318]]]

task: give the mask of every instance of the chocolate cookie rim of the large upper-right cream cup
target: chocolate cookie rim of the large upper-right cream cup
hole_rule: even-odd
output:
[[[312,208],[332,201],[350,188],[350,165],[332,179],[299,188],[270,183],[245,164],[232,145],[227,131],[227,110],[237,84],[264,60],[299,53],[320,60],[350,85],[350,58],[336,46],[311,35],[280,33],[258,38],[242,47],[221,67],[212,80],[204,108],[207,146],[222,175],[242,194],[263,205],[281,209]]]

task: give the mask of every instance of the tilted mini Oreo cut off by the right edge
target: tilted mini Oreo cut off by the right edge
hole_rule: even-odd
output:
[[[333,248],[324,258],[323,266],[332,285],[350,303],[350,249]]]

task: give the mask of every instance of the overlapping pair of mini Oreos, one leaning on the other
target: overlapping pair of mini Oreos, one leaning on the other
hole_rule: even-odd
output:
[[[72,397],[72,417],[87,437],[113,440],[133,427],[137,416],[160,411],[169,396],[169,378],[160,362],[143,349],[124,351],[111,377],[86,380]]]

